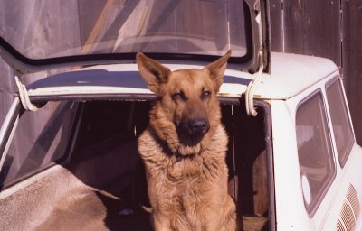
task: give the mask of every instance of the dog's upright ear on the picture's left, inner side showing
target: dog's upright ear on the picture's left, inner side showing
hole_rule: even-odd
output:
[[[148,83],[148,88],[157,95],[161,95],[160,85],[167,83],[171,70],[143,53],[137,53],[136,60],[139,73]]]

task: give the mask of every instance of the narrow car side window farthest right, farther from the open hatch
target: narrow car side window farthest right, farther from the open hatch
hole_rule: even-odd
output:
[[[329,113],[335,136],[338,159],[343,168],[354,143],[352,126],[349,122],[348,108],[340,80],[334,80],[327,86]]]

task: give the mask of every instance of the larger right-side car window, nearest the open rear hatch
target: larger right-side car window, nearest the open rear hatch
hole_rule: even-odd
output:
[[[320,91],[298,106],[296,134],[304,203],[312,216],[336,175],[329,125]]]

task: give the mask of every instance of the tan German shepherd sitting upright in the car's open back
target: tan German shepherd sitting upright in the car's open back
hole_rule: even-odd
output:
[[[171,71],[137,54],[139,72],[158,98],[138,138],[155,230],[236,229],[227,192],[228,137],[216,96],[230,55],[203,69]]]

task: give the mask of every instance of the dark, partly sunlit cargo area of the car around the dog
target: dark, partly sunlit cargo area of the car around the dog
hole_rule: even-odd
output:
[[[81,102],[69,158],[0,199],[0,207],[8,211],[1,214],[8,230],[152,230],[143,208],[149,206],[147,181],[137,152],[151,105]],[[222,100],[229,134],[228,189],[236,201],[241,230],[269,230],[274,213],[264,107],[258,106],[258,115],[252,117],[239,99]]]

